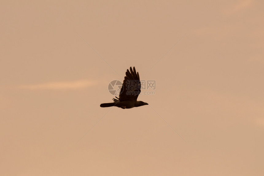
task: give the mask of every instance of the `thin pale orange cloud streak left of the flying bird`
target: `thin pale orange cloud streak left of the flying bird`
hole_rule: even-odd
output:
[[[77,90],[95,86],[91,80],[45,82],[40,84],[21,85],[19,88],[28,90]]]

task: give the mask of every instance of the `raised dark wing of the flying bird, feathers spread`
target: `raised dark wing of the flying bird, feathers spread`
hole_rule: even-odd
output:
[[[119,101],[137,100],[141,92],[140,88],[141,83],[138,72],[136,72],[135,67],[133,67],[133,70],[130,67],[130,71],[128,69],[126,70],[126,76],[119,94]]]

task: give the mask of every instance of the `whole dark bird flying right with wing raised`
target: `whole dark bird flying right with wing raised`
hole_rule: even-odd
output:
[[[102,103],[100,107],[111,107],[116,106],[122,109],[129,109],[138,106],[148,105],[143,101],[137,101],[138,95],[140,94],[141,90],[141,83],[139,79],[138,72],[136,72],[135,67],[130,67],[130,71],[126,70],[126,76],[123,81],[122,88],[119,93],[119,98],[113,98],[113,103]]]

